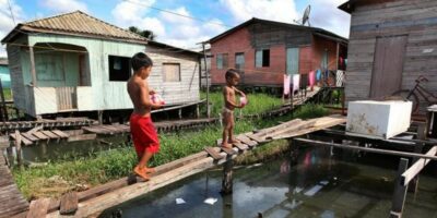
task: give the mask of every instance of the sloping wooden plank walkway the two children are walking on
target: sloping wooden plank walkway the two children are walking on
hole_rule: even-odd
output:
[[[156,167],[156,173],[153,174],[150,181],[144,182],[139,178],[128,177],[80,192],[78,193],[78,205],[71,205],[72,208],[78,206],[78,209],[74,213],[72,211],[74,214],[73,217],[95,215],[96,213],[103,211],[194,173],[222,165],[246,150],[253,149],[270,142],[271,138],[284,138],[290,135],[291,137],[294,137],[319,129],[331,128],[344,122],[344,117],[330,116],[307,121],[293,120],[265,129],[269,131],[261,130],[255,134],[239,134],[236,136],[239,142],[234,144],[232,149],[223,149],[216,146],[205,147],[204,152]],[[291,125],[291,123],[298,125],[298,128]],[[251,137],[256,137],[260,142],[255,142]],[[47,217],[62,217],[59,210],[60,206],[60,201],[54,202],[48,209],[49,214]]]

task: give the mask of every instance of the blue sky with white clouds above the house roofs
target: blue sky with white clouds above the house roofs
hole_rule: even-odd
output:
[[[349,37],[351,16],[338,7],[346,0],[0,0],[0,38],[23,22],[81,10],[127,28],[153,31],[156,40],[199,50],[210,39],[251,17],[296,24],[307,5],[309,22]],[[164,11],[163,11],[164,10]],[[12,11],[12,13],[11,13]],[[165,11],[174,12],[188,19]],[[5,46],[0,57],[5,57]]]

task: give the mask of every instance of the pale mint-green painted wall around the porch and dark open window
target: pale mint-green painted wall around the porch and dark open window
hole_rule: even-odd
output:
[[[132,57],[134,53],[144,51],[144,45],[135,45],[120,41],[83,38],[60,35],[29,35],[28,44],[34,46],[38,43],[59,43],[81,46],[88,52],[88,64],[91,72],[91,89],[84,98],[78,98],[79,110],[125,109],[132,108],[132,104],[126,90],[127,82],[110,82],[108,70],[108,56]],[[66,66],[67,85],[75,86],[79,82],[79,53],[68,53]],[[35,59],[37,53],[35,55]],[[32,81],[29,71],[28,53],[22,53],[24,82]],[[36,65],[39,60],[36,60]],[[54,69],[54,68],[51,68]],[[63,86],[59,81],[39,82],[40,86]]]

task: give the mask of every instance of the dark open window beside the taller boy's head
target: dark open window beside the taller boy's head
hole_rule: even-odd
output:
[[[130,75],[130,58],[109,56],[109,81],[128,81]]]

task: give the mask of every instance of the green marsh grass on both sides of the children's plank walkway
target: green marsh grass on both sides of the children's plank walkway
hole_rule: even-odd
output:
[[[216,101],[220,100],[218,94],[213,94],[215,111]],[[277,104],[277,99],[269,99],[268,95],[251,95],[250,102],[253,105],[253,111],[261,112],[257,105],[262,100]],[[258,99],[259,98],[259,99]],[[257,102],[257,105],[256,105]],[[273,105],[273,104],[272,104]],[[277,105],[276,105],[277,106]],[[271,106],[273,107],[273,106]],[[270,109],[260,106],[263,110]],[[247,108],[249,111],[249,107]],[[297,110],[293,117],[315,118],[327,114],[327,110],[321,106],[306,105]],[[244,133],[256,129],[263,129],[277,124],[280,121],[291,120],[292,114],[281,118],[264,120],[239,120],[237,121],[235,133]],[[221,137],[222,129],[218,124],[211,125],[201,130],[191,130],[184,132],[165,133],[160,135],[161,152],[151,161],[152,166],[160,166],[181,157],[198,153],[205,146],[213,146]],[[240,162],[250,162],[256,159],[263,159],[268,155],[274,155],[286,150],[284,141],[272,142],[269,146],[262,146],[247,155],[247,160]],[[69,190],[81,191],[87,186],[105,183],[132,172],[137,164],[137,156],[131,147],[123,146],[97,154],[90,154],[87,157],[75,157],[73,160],[58,160],[49,162],[47,166],[28,168],[24,170],[14,169],[15,181],[22,193],[28,197],[59,196]]]

